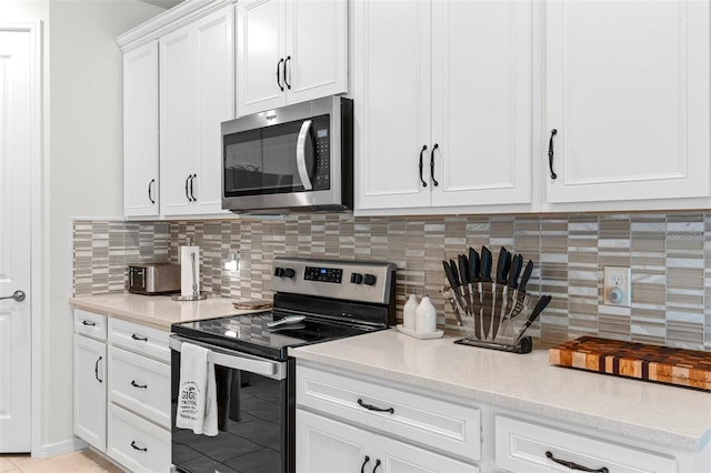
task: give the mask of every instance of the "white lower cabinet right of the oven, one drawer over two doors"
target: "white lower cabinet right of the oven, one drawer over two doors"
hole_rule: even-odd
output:
[[[297,368],[297,472],[478,472],[477,407]]]

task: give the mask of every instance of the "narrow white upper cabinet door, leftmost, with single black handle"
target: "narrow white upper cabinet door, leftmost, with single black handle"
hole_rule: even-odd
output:
[[[158,211],[158,41],[151,41],[123,54],[123,213]]]

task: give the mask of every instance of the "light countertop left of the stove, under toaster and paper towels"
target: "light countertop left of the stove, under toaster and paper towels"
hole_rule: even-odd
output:
[[[208,298],[202,301],[173,301],[170,295],[141,295],[112,293],[71,298],[69,302],[78,309],[111,315],[157,329],[170,330],[176,322],[213,319],[223,315],[241,315],[253,310],[238,310],[237,300]]]

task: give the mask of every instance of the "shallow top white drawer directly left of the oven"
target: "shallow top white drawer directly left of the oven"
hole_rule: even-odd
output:
[[[109,319],[109,342],[136,353],[170,363],[168,331],[151,329],[121,319]]]

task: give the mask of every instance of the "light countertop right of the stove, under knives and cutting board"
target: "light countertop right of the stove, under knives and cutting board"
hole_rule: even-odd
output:
[[[547,350],[521,355],[454,340],[391,329],[289,354],[640,441],[694,452],[709,445],[711,393],[552,366]]]

